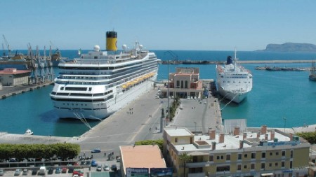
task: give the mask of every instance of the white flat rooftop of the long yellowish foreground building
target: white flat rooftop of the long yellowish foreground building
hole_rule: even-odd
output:
[[[188,129],[182,127],[176,129],[169,128],[165,129],[165,131],[169,136],[188,136],[192,134]],[[222,138],[220,138],[220,136],[222,136]],[[296,146],[301,144],[301,141],[298,139],[290,141],[289,136],[291,135],[275,131],[275,129],[269,129],[265,134],[261,134],[260,132],[242,132],[237,135],[215,134],[215,139],[211,139],[211,135],[194,135],[194,143],[175,145],[174,147],[178,152],[190,152],[196,150],[212,150],[212,146],[215,146],[216,150],[240,149],[241,142],[242,148]]]

